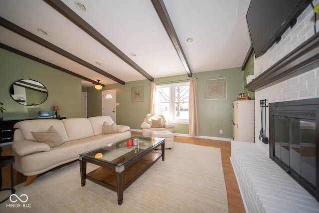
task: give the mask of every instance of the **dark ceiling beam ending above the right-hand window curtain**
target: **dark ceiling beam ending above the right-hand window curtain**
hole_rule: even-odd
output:
[[[191,69],[189,67],[189,64],[187,62],[186,56],[184,54],[184,51],[180,45],[180,42],[178,40],[177,34],[175,32],[174,26],[170,20],[170,17],[168,15],[168,12],[166,10],[165,4],[163,2],[163,0],[151,0],[153,3],[153,6],[155,8],[155,10],[157,11],[159,17],[160,17],[160,21],[163,24],[171,42],[173,43],[176,52],[187,72],[188,77],[192,76],[192,72]]]

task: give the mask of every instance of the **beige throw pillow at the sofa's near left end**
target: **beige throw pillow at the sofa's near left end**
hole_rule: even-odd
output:
[[[45,143],[49,147],[56,147],[63,144],[62,137],[59,133],[51,126],[46,132],[31,132],[37,142]]]

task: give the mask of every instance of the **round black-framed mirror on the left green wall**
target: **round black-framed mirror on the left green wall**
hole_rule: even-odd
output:
[[[48,90],[38,81],[21,79],[11,85],[10,95],[19,104],[36,106],[47,99]]]

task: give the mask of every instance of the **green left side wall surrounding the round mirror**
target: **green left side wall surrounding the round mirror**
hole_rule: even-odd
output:
[[[0,102],[6,109],[3,120],[34,118],[38,111],[53,113],[58,105],[61,117],[81,117],[81,79],[0,48]],[[11,84],[20,79],[41,82],[48,98],[36,106],[24,106],[9,95]]]

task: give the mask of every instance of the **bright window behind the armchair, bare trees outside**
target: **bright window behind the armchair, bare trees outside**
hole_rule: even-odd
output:
[[[175,123],[188,123],[189,82],[157,85],[156,112]]]

